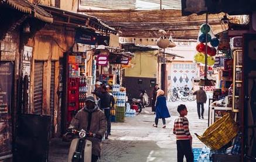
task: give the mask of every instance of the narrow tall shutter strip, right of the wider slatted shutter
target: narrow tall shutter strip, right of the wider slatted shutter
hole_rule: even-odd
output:
[[[54,135],[54,76],[55,76],[55,62],[52,61],[51,77],[50,77],[50,115],[51,115],[51,126],[50,126],[50,137]]]

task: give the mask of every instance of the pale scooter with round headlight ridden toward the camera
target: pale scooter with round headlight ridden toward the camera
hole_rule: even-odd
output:
[[[87,137],[91,138],[97,138],[101,140],[101,137],[91,133],[86,132],[85,130],[75,130],[72,129],[70,132],[67,132],[64,135],[64,138],[67,136],[77,136],[78,138],[75,138],[72,140],[70,147],[69,147],[69,156],[68,156],[68,162],[91,162],[91,149],[92,149],[92,143],[90,140],[87,140]]]

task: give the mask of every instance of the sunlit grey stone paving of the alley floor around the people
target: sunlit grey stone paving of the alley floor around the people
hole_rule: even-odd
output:
[[[159,120],[157,128],[152,126],[155,115],[151,113],[151,108],[144,109],[136,117],[125,118],[124,123],[112,123],[112,135],[110,139],[103,142],[100,162],[176,161],[176,139],[172,128],[173,122],[178,116],[176,108],[179,104],[186,104],[189,111],[187,118],[190,122],[190,133],[193,136],[193,147],[204,146],[194,136],[194,133],[202,135],[207,128],[208,106],[205,106],[207,107],[204,112],[205,119],[198,119],[196,102],[168,102],[169,112],[172,116],[166,119],[166,129],[162,129],[161,120]],[[50,146],[49,161],[66,161],[69,143],[54,139]]]

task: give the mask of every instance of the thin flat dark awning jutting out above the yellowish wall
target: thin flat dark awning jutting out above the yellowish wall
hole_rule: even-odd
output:
[[[158,50],[156,48],[153,48],[151,46],[144,46],[141,44],[136,43],[122,43],[122,47],[125,49],[125,51],[129,52],[135,52],[135,51],[155,51]]]

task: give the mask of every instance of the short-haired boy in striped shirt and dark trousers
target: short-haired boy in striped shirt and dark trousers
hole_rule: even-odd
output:
[[[192,136],[189,132],[189,120],[185,117],[187,115],[187,108],[181,104],[178,106],[179,118],[175,119],[173,126],[173,134],[176,135],[178,162],[183,162],[183,157],[186,157],[187,162],[194,161],[192,151]]]

